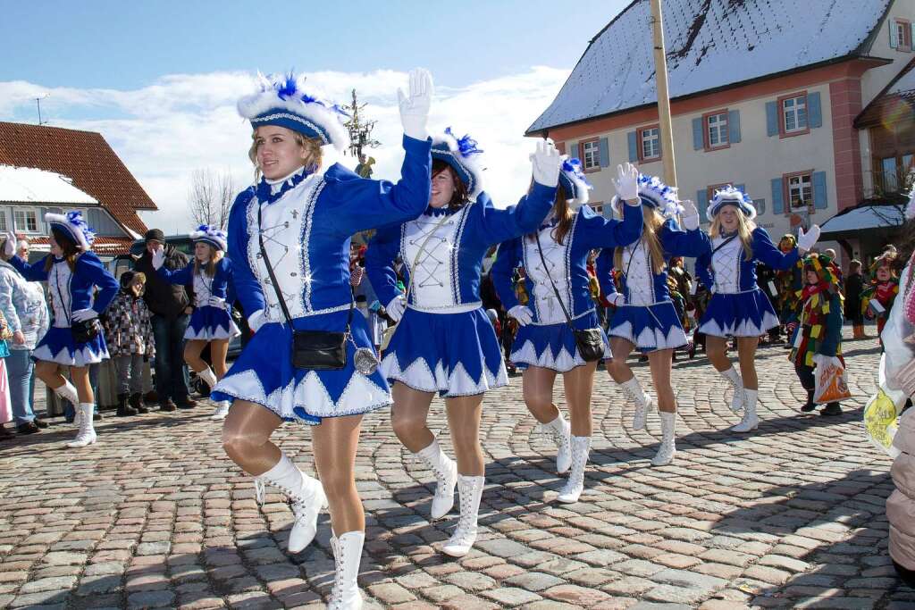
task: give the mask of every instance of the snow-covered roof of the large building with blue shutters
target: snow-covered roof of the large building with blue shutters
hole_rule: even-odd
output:
[[[891,0],[666,0],[672,98],[856,53]],[[634,0],[588,45],[528,132],[657,102],[649,0]]]

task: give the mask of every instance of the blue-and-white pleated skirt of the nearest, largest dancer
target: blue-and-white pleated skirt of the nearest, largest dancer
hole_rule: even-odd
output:
[[[349,312],[339,311],[293,320],[297,330],[341,332]],[[360,348],[374,351],[365,318],[352,316],[352,337]],[[389,406],[391,391],[381,368],[363,375],[353,366],[356,348],[348,341],[346,366],[339,370],[295,369],[292,330],[288,325],[261,326],[210,398],[251,401],[286,421],[321,423],[324,417],[358,415]]]

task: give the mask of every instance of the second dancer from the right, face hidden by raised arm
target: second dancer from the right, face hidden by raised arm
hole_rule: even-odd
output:
[[[610,377],[635,402],[632,428],[645,427],[648,412],[654,406],[651,397],[642,391],[626,359],[639,348],[648,356],[651,380],[658,395],[661,417],[661,446],[651,460],[653,466],[673,461],[676,453],[674,428],[677,403],[671,386],[673,349],[686,345],[684,328],[680,324],[667,289],[665,262],[672,256],[696,256],[708,248],[708,236],[699,230],[699,212],[692,201],[677,200],[676,188],[664,185],[657,177],[641,176],[630,164],[618,167],[614,181],[617,195],[611,201],[619,214],[620,199],[640,201],[644,225],[639,241],[625,248],[605,250],[597,258],[597,278],[602,292],[616,312],[610,321]],[[674,217],[683,214],[684,229]],[[614,270],[619,270],[623,292],[616,290]]]

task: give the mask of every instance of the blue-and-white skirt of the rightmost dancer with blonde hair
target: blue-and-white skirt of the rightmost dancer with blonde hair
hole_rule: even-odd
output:
[[[759,337],[779,326],[779,316],[759,288],[736,294],[712,294],[699,332],[712,337]]]

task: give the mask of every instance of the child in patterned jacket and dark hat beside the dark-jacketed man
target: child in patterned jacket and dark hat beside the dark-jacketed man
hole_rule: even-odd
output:
[[[146,276],[121,274],[121,292],[105,316],[105,342],[117,373],[117,415],[149,412],[143,404],[144,362],[156,354],[149,308],[143,300]]]

